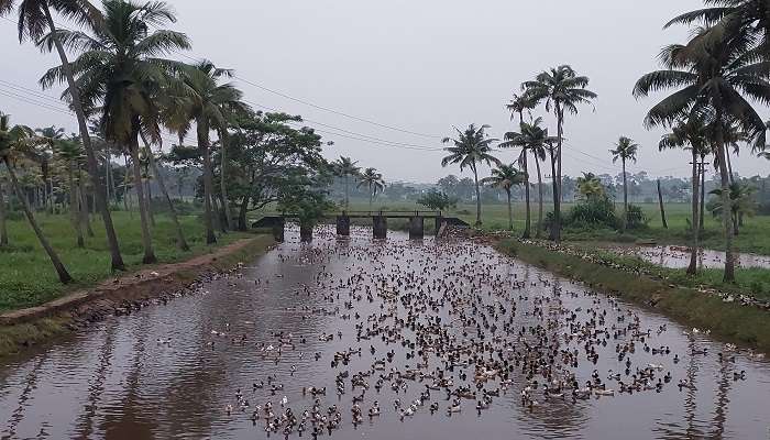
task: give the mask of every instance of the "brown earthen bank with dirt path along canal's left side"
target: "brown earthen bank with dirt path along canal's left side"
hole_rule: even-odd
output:
[[[2,314],[0,356],[111,315],[131,314],[153,300],[165,302],[185,295],[193,285],[263,254],[273,243],[268,235],[241,239],[184,262],[146,266],[41,306]]]

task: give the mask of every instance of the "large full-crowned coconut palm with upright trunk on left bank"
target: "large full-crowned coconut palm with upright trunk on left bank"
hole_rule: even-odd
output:
[[[85,32],[58,30],[43,37],[41,44],[55,41],[82,53],[72,64],[77,77],[80,100],[89,111],[98,111],[108,141],[114,141],[129,152],[133,168],[142,224],[145,264],[157,261],[152,244],[142,169],[139,157],[140,132],[153,140],[160,138],[158,109],[154,99],[166,87],[172,70],[182,64],[158,55],[189,48],[185,34],[161,28],[175,21],[164,2],[136,4],[123,0],[106,0],[105,15],[91,22],[92,35]],[[41,84],[51,87],[61,82],[68,66],[50,69]]]

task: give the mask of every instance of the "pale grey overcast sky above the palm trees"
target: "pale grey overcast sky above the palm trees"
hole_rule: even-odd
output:
[[[629,172],[688,176],[684,152],[658,151],[663,130],[647,130],[647,110],[662,96],[637,101],[635,81],[657,69],[660,48],[684,42],[686,29],[663,30],[698,0],[202,0],[169,1],[193,50],[235,69],[233,82],[257,110],[305,118],[324,141],[324,155],[375,167],[388,182],[433,183],[442,168],[441,138],[453,128],[488,124],[493,138],[516,130],[505,109],[520,84],[543,69],[571,65],[591,78],[595,106],[568,116],[564,173],[617,174],[608,151],[620,135],[640,144]],[[13,19],[15,16],[12,16]],[[14,123],[56,124],[75,131],[59,90],[37,79],[57,64],[31,44],[18,45],[15,24],[0,20],[6,67],[0,110]],[[761,108],[760,114],[768,114]],[[556,121],[541,107],[556,134]],[[517,152],[501,151],[513,162]],[[770,162],[746,151],[734,160],[741,175],[770,173]],[[468,173],[468,172],[466,172]],[[483,174],[488,174],[484,170]]]

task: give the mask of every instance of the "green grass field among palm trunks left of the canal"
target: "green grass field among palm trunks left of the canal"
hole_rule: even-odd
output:
[[[62,285],[43,252],[32,229],[23,220],[9,221],[10,248],[0,250],[0,311],[36,306],[61,295],[85,287],[91,287],[113,275],[110,272],[110,254],[105,239],[105,229],[98,217],[94,217],[94,238],[86,238],[86,248],[77,249],[75,233],[68,216],[37,215],[45,235],[59,254],[74,284]],[[190,252],[176,249],[175,233],[170,219],[156,216],[153,229],[155,254],[161,263],[188,260],[195,255],[211,252],[216,246],[207,246],[204,240],[202,221],[197,216],[180,218]],[[113,221],[120,240],[123,260],[128,268],[140,268],[142,262],[141,230],[138,212],[116,211]],[[217,245],[232,243],[245,233],[231,232],[219,238]]]

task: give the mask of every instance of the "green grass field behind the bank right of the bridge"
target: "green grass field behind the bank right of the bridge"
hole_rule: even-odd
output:
[[[562,210],[566,212],[573,204],[563,204]],[[619,234],[610,229],[595,230],[570,230],[563,232],[564,241],[594,241],[594,242],[634,242],[637,240],[654,240],[660,244],[688,244],[690,241],[688,230],[688,218],[691,216],[689,204],[666,205],[668,229],[663,228],[660,211],[657,204],[635,204],[639,205],[647,217],[649,223],[647,228],[636,231],[628,231]],[[414,201],[389,201],[377,200],[373,204],[373,209],[392,210],[426,210]],[[514,229],[524,230],[525,204],[514,204]],[[351,210],[369,210],[369,201],[351,200]],[[482,205],[482,229],[494,231],[507,229],[508,211],[505,204]],[[532,228],[535,228],[538,216],[537,201],[532,202]],[[552,208],[549,202],[543,205],[543,216]],[[622,206],[617,205],[617,212]],[[457,216],[462,220],[473,224],[475,222],[476,206],[473,204],[461,204],[455,209],[448,210],[447,216]],[[770,216],[757,216],[745,219],[746,224],[740,229],[740,234],[735,238],[735,246],[739,252],[757,253],[770,255]],[[702,237],[702,245],[706,249],[724,250],[724,239],[722,223],[719,219],[714,219],[706,212],[705,231]]]

